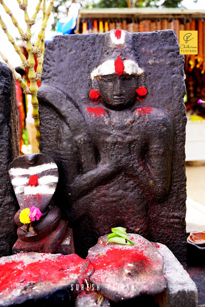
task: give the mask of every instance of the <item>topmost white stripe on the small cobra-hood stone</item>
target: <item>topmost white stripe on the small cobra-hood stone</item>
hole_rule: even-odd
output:
[[[18,167],[10,169],[9,174],[11,176],[35,175],[49,169],[57,169],[57,165],[55,163],[46,163],[37,166],[31,166],[28,169],[22,169]]]

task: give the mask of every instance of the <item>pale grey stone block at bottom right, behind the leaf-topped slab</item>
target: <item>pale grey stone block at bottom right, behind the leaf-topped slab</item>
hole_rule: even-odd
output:
[[[172,252],[161,243],[152,243],[164,259],[167,289],[155,297],[159,307],[197,307],[198,293],[195,283]]]

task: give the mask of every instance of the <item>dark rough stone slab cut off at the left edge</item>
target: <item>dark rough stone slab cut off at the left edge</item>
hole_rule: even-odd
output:
[[[15,78],[0,61],[0,257],[11,255],[17,239],[14,215],[18,202],[12,188],[8,167],[19,155],[18,105]]]

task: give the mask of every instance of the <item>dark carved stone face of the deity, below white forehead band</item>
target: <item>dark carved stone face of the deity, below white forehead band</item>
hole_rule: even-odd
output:
[[[137,78],[134,75],[105,75],[99,77],[102,102],[114,110],[131,106],[136,100]]]

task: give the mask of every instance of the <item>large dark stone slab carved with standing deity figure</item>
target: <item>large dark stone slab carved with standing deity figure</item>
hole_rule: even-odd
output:
[[[48,44],[41,153],[59,169],[54,204],[85,256],[121,226],[184,261],[183,56],[172,30],[58,36]]]

